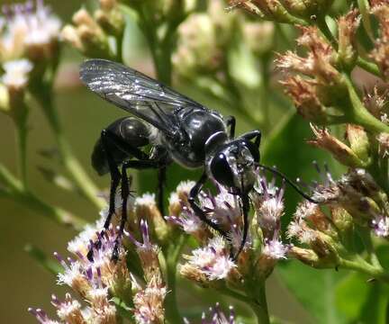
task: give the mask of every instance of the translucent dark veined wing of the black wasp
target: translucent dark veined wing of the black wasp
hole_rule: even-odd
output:
[[[176,108],[204,109],[184,94],[132,69],[105,59],[90,59],[81,65],[80,78],[96,94],[123,110],[173,135],[177,129]]]

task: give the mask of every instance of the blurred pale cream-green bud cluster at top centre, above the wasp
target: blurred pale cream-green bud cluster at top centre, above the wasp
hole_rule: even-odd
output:
[[[223,1],[209,1],[206,11],[189,15],[178,28],[174,73],[204,86],[208,86],[206,77],[224,85],[226,74],[234,76],[232,70],[237,68],[229,67],[231,56],[261,57],[273,49],[274,36],[274,23],[249,21],[239,11],[225,10]]]

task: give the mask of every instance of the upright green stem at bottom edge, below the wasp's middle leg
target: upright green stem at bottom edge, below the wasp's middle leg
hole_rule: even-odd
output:
[[[165,298],[166,319],[170,324],[181,323],[182,317],[178,311],[176,301],[176,266],[182,247],[185,244],[185,236],[181,235],[175,242],[167,247],[166,258],[166,276],[167,289],[169,293]]]

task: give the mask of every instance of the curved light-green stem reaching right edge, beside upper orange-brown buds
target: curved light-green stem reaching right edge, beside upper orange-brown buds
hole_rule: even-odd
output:
[[[348,111],[346,112],[350,121],[359,124],[366,128],[366,130],[374,133],[383,131],[389,132],[389,126],[384,124],[384,122],[377,120],[375,116],[366,110],[364,104],[359,99],[359,95],[357,94],[357,90],[355,89],[350,76],[347,73],[343,73],[343,76],[348,88],[348,96],[351,103],[348,105]]]

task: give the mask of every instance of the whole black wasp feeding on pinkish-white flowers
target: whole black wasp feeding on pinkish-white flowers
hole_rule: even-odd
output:
[[[249,192],[257,178],[260,130],[235,138],[234,117],[224,118],[219,112],[196,103],[149,76],[109,60],[87,60],[81,66],[80,77],[90,90],[134,116],[113,121],[102,130],[92,154],[92,165],[98,174],[109,172],[112,179],[104,229],[108,229],[111,222],[114,195],[121,184],[123,202],[119,236],[122,235],[130,194],[128,168],[158,169],[158,204],[163,212],[166,167],[172,162],[186,168],[204,167],[204,173],[190,191],[188,201],[201,220],[226,238],[227,233],[207,218],[196,197],[208,179],[239,196],[244,225],[237,257],[248,235]],[[146,153],[141,148],[148,145],[151,149]],[[119,166],[122,166],[121,171]],[[275,169],[263,167],[285,178]],[[302,193],[293,183],[285,180]],[[118,242],[119,237],[115,250]]]

